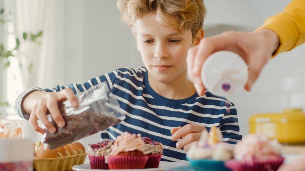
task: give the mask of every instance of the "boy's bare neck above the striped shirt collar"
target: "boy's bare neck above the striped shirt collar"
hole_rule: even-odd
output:
[[[156,93],[169,99],[185,99],[196,93],[193,83],[187,79],[187,69],[178,78],[168,83],[158,82],[148,73],[148,83]]]

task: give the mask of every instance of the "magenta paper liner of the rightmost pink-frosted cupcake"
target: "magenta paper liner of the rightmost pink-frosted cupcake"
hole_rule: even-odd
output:
[[[283,157],[268,159],[266,161],[253,160],[251,162],[229,160],[225,163],[225,166],[235,171],[276,171],[283,164],[283,162]]]

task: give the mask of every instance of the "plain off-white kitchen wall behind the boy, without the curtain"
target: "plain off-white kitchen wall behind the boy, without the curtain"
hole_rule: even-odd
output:
[[[83,83],[120,67],[137,68],[143,65],[130,29],[119,19],[115,0],[66,2],[66,85]],[[268,16],[282,11],[288,2],[205,0],[209,13],[204,26],[238,24],[255,28]],[[228,17],[230,15],[239,18]],[[228,97],[237,106],[243,135],[248,132],[248,118],[252,114],[305,106],[304,49],[303,45],[271,59],[252,92]],[[99,138],[96,134],[81,142],[95,143]]]

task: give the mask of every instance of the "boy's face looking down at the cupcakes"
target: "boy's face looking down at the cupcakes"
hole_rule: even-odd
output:
[[[158,82],[168,83],[186,74],[187,50],[192,32],[161,26],[155,14],[143,14],[135,23],[137,48],[148,73]],[[186,75],[185,75],[186,76]]]

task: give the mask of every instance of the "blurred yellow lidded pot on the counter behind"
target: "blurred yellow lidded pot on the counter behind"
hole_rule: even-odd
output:
[[[267,135],[281,143],[305,143],[305,113],[284,109],[283,113],[262,113],[249,119],[250,133]]]

